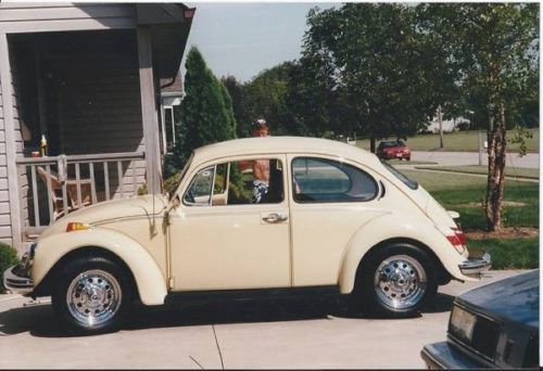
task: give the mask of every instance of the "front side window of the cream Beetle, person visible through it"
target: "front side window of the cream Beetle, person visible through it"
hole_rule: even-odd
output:
[[[186,191],[184,202],[190,206],[220,206],[274,204],[283,199],[282,163],[275,158],[255,158],[200,170]]]

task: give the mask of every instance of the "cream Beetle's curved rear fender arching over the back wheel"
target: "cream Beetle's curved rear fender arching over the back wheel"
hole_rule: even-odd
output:
[[[364,225],[349,242],[343,253],[338,278],[341,293],[349,294],[353,291],[358,265],[368,252],[391,240],[411,240],[428,246],[453,278],[460,281],[475,281],[464,276],[458,268],[466,256],[458,254],[432,222],[412,221],[405,216],[393,213],[377,217]]]

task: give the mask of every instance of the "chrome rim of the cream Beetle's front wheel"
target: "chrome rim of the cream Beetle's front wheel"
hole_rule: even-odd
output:
[[[72,317],[80,324],[93,328],[113,318],[123,293],[115,277],[103,270],[88,270],[78,274],[66,292],[66,304]]]

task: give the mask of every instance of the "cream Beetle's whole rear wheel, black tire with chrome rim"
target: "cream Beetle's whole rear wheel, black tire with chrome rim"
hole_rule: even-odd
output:
[[[435,271],[420,247],[407,243],[378,247],[358,268],[353,302],[368,315],[412,317],[435,296]]]

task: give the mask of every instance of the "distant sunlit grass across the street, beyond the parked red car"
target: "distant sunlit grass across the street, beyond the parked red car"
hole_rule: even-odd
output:
[[[527,148],[528,152],[539,152],[539,142],[540,142],[540,131],[539,129],[530,129],[532,131],[533,138],[527,139]],[[479,131],[457,131],[457,132],[447,132],[444,133],[443,144],[444,148],[440,149],[440,136],[439,133],[431,135],[418,135],[415,137],[408,137],[406,144],[414,151],[444,151],[444,152],[478,152],[478,140],[479,140]],[[507,131],[507,138],[513,138],[514,131]],[[485,132],[483,133],[483,140],[485,140]],[[392,138],[391,140],[394,140]],[[369,140],[363,139],[356,142],[356,145],[363,148],[365,150],[369,150]],[[518,152],[517,144],[507,143],[507,148],[509,152]]]

